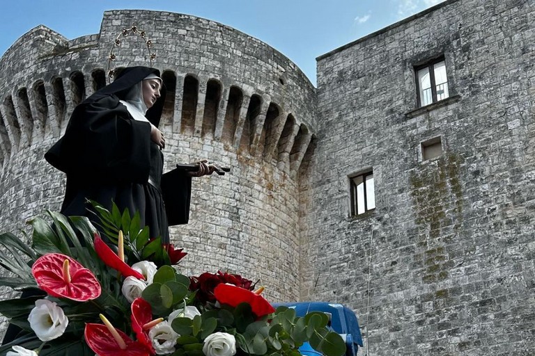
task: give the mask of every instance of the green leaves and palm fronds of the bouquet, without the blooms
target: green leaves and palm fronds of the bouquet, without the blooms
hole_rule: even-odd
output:
[[[201,315],[193,318],[174,318],[171,327],[180,337],[173,356],[202,356],[204,340],[214,332],[226,332],[235,337],[238,353],[249,355],[298,356],[297,350],[305,342],[326,356],[341,356],[346,345],[339,334],[328,329],[326,314],[311,312],[298,317],[294,309],[279,307],[274,314],[257,318],[251,305],[242,302],[236,307],[196,303],[196,291],[189,289],[189,277],[169,266],[169,256],[162,248],[160,238],[150,239],[148,228],[141,227],[139,213],[133,216],[125,210],[121,213],[113,204],[111,211],[91,202],[100,216],[100,229],[111,243],[118,241],[118,232],[125,237],[127,263],[148,259],[159,268],[141,293],[150,304],[154,318],[168,318],[177,309],[198,305]],[[33,227],[31,245],[13,234],[0,235],[0,266],[13,277],[0,277],[0,285],[16,289],[36,287],[31,266],[43,254],[57,252],[66,254],[91,270],[102,286],[102,294],[91,302],[73,302],[65,298],[52,298],[69,318],[65,334],[59,339],[42,343],[31,331],[28,314],[35,301],[42,297],[20,298],[0,301],[0,314],[24,330],[13,343],[0,346],[0,355],[5,355],[11,346],[19,345],[29,350],[40,348],[39,355],[91,355],[84,342],[86,323],[100,323],[99,314],[104,314],[119,330],[133,335],[130,322],[130,304],[121,293],[123,278],[110,270],[95,252],[93,238],[97,233],[91,222],[84,217],[65,218],[60,213],[47,211],[45,218],[29,221]],[[26,237],[26,236],[25,236]],[[26,237],[27,238],[27,237]],[[112,273],[113,272],[113,273]]]

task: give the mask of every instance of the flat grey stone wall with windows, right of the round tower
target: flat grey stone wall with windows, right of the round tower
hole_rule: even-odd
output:
[[[535,355],[534,4],[445,1],[318,58],[302,298],[354,308],[368,355]],[[441,54],[450,99],[415,110]]]

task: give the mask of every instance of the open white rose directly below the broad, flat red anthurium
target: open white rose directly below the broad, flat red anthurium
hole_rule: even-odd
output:
[[[55,302],[47,299],[36,300],[36,307],[31,309],[28,316],[30,327],[40,341],[50,341],[61,337],[69,324],[69,319],[63,309]]]

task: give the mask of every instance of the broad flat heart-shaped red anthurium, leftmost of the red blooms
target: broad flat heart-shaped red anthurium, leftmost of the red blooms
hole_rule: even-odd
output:
[[[39,257],[31,273],[39,288],[53,297],[85,302],[98,298],[102,292],[91,270],[65,254],[48,253]]]

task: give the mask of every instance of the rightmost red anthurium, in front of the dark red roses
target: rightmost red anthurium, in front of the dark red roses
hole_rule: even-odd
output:
[[[214,289],[214,295],[218,302],[230,305],[231,307],[237,307],[243,302],[248,303],[258,318],[275,312],[275,308],[263,296],[253,291],[240,288],[239,286],[223,283],[217,284]]]

